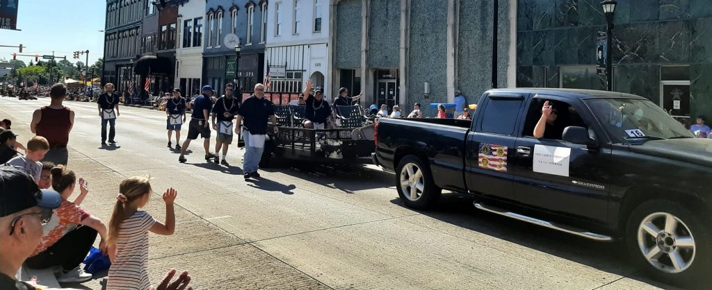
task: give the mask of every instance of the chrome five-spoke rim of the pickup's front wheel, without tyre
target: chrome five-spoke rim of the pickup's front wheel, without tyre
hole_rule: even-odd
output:
[[[695,259],[692,232],[670,213],[651,213],[640,222],[638,247],[648,263],[670,274],[689,269]]]

